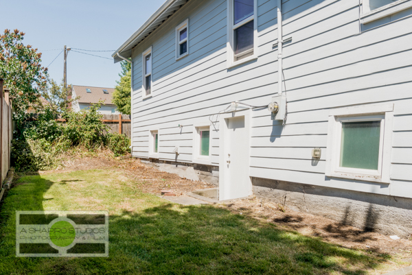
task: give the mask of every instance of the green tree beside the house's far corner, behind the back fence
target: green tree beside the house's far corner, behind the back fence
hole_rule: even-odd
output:
[[[131,69],[129,62],[122,61],[122,73],[119,73],[120,81],[117,82],[115,91],[113,92],[113,103],[117,106],[117,110],[126,115],[130,115],[130,86],[131,86]]]

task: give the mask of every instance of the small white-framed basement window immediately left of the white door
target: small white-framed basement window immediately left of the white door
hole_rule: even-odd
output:
[[[194,163],[210,164],[211,131],[210,125],[194,128]]]

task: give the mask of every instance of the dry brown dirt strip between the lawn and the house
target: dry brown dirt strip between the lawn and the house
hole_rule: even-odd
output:
[[[215,187],[206,182],[187,180],[176,174],[159,171],[150,165],[141,163],[137,158],[85,157],[73,160],[69,165],[67,164],[62,172],[107,169],[109,167],[122,174],[122,181],[125,180],[125,177],[128,178],[131,188],[140,189],[144,193],[160,195],[162,189],[172,189],[176,195],[185,195],[194,190]],[[297,213],[285,206],[258,198],[238,200],[231,204],[218,204],[217,206],[227,208],[233,213],[248,215],[275,224],[280,228],[296,230],[302,235],[321,237],[323,241],[335,243],[345,248],[378,254],[396,254],[398,259],[405,261],[405,265],[412,263],[411,240],[393,240],[389,236],[380,235],[377,232],[367,232],[325,217]],[[128,202],[124,202],[120,207],[128,211],[133,210]]]

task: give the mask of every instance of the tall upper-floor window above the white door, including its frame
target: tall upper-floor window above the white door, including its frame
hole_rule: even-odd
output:
[[[228,1],[228,67],[257,57],[256,0]]]

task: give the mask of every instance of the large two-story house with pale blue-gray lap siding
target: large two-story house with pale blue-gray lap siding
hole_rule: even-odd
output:
[[[220,200],[409,236],[412,0],[280,2],[168,0],[113,53],[133,156]]]

